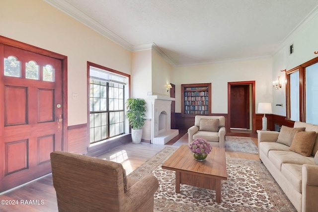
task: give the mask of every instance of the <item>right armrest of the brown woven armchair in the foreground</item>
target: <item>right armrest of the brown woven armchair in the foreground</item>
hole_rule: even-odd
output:
[[[138,211],[146,200],[154,198],[159,188],[158,179],[154,175],[146,175],[125,192],[126,211]]]

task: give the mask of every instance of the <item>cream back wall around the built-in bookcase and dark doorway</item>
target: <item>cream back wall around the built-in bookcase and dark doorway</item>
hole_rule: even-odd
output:
[[[212,83],[212,113],[228,113],[228,82],[255,81],[255,107],[272,101],[272,60],[259,59],[175,68],[176,113],[181,112],[181,84]]]

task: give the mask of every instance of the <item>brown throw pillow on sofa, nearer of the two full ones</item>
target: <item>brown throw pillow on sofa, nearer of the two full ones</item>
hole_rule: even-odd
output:
[[[293,139],[292,145],[289,147],[289,150],[309,157],[312,154],[316,136],[317,134],[315,131],[297,132]]]

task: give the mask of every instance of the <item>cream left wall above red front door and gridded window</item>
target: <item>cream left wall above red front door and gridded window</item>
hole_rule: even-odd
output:
[[[1,36],[68,57],[68,126],[87,123],[87,61],[131,74],[131,52],[43,0],[2,0],[0,20]]]

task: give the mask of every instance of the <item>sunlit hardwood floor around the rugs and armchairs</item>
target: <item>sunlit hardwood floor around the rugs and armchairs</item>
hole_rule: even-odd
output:
[[[98,158],[117,161],[123,164],[126,173],[129,174],[165,146],[188,144],[186,132],[180,134],[165,145],[142,142],[140,144],[127,143],[120,145],[109,152],[101,154]],[[257,139],[251,138],[257,146]],[[259,160],[257,154],[248,154],[235,151],[226,151],[227,157],[239,157],[245,159]],[[57,212],[56,193],[53,187],[52,175],[26,184],[13,191],[0,195],[9,205],[0,204],[0,212]]]

